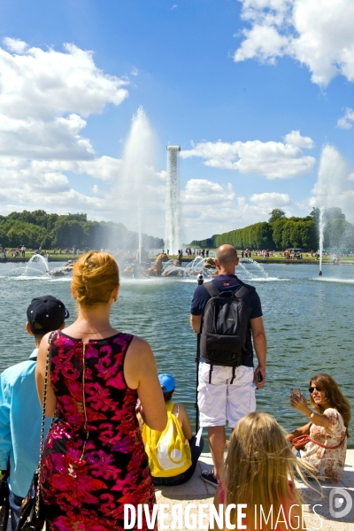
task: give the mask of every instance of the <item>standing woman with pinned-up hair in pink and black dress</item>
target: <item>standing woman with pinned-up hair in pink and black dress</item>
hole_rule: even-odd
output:
[[[50,344],[46,414],[56,420],[42,456],[47,528],[120,530],[124,504],[146,504],[151,514],[155,503],[137,400],[144,421],[158,430],[165,428],[165,402],[150,345],[110,324],[119,292],[114,258],[98,251],[79,258],[72,292],[78,317],[65,332],[44,336],[36,366],[42,399]]]

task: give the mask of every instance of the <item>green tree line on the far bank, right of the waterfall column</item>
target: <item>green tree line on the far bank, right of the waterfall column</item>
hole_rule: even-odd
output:
[[[345,219],[340,208],[328,208],[324,212],[324,247],[354,250],[354,225]],[[190,245],[216,248],[223,243],[236,249],[285,250],[301,248],[319,249],[319,209],[313,208],[304,218],[287,218],[281,209],[273,209],[268,221],[213,235],[205,240],[194,240]]]

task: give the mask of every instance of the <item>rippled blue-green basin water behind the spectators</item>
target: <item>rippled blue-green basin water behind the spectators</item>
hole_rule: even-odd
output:
[[[27,335],[26,310],[34,296],[62,299],[73,322],[76,308],[70,278],[48,278],[28,271],[23,264],[0,264],[2,349],[0,372],[26,359],[34,347]],[[243,264],[236,268],[243,281],[256,287],[261,298],[268,340],[266,387],[257,391],[258,411],[273,414],[290,430],[305,423],[304,415],[289,405],[289,390],[300,388],[309,396],[315,373],[337,381],[354,410],[354,267]],[[39,275],[39,276],[38,276]],[[189,306],[196,281],[177,278],[121,279],[112,325],[141,335],[150,342],[158,371],[173,373],[176,401],[195,419],[196,335],[189,327]],[[354,423],[351,424],[354,434]],[[354,437],[349,440],[354,448]]]

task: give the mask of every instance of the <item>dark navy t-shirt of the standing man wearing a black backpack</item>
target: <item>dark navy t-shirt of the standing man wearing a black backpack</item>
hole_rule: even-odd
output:
[[[244,282],[240,281],[235,274],[219,274],[212,280],[212,283],[215,285],[219,291],[237,291],[242,288],[242,286],[247,286]],[[192,315],[203,315],[204,308],[206,303],[209,301],[211,296],[204,288],[203,284],[196,288],[194,292],[192,304],[190,306],[190,313]],[[250,293],[246,295],[243,299],[243,303],[250,310],[250,319],[256,319],[262,317],[262,307],[260,304],[260,299],[256,289],[251,289]],[[202,327],[203,327],[203,318],[202,318]],[[253,366],[253,348],[252,348],[252,339],[250,333],[250,323],[247,329],[246,337],[246,350],[247,354],[243,359],[243,366],[252,367]],[[203,360],[203,358],[201,358]]]

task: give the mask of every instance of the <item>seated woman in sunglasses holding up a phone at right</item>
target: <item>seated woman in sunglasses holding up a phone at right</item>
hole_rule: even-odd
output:
[[[291,406],[304,413],[310,422],[287,435],[289,441],[310,435],[308,443],[294,453],[314,466],[318,479],[336,483],[344,469],[347,451],[350,404],[337,383],[328,374],[317,374],[310,381],[309,408],[303,395],[290,396]]]

